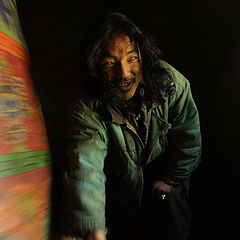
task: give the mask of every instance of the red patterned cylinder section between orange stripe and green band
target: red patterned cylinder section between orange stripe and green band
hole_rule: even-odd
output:
[[[0,155],[48,149],[44,120],[33,91],[29,65],[1,49],[0,126]]]

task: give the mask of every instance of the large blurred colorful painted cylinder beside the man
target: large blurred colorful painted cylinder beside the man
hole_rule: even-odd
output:
[[[49,239],[50,151],[15,0],[0,0],[0,239]]]

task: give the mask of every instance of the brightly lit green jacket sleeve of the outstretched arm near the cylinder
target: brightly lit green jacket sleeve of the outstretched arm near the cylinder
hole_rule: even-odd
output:
[[[99,115],[80,102],[72,111],[64,168],[64,233],[105,230],[107,135]]]

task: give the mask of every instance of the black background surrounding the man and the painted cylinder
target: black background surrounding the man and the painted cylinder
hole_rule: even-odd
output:
[[[46,120],[54,174],[62,157],[64,112],[81,86],[79,56],[84,29],[99,11],[125,13],[155,37],[165,60],[189,79],[199,108],[203,158],[191,182],[192,239],[240,239],[239,1],[17,3]],[[57,192],[53,200],[57,206]],[[56,221],[54,227],[57,230]]]

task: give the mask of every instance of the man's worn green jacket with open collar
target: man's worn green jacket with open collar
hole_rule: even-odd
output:
[[[66,234],[105,229],[107,193],[121,205],[140,201],[142,168],[160,161],[163,152],[161,171],[168,179],[184,180],[199,164],[200,124],[189,82],[166,62],[161,64],[173,78],[176,92],[149,110],[146,145],[125,118],[111,118],[101,101],[78,101],[71,114],[64,172]]]

